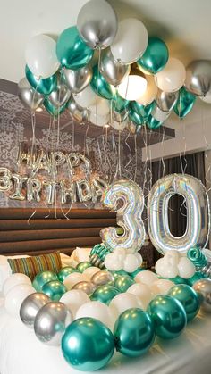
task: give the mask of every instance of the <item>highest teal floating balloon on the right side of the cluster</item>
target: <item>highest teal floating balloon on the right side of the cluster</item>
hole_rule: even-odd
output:
[[[164,69],[168,57],[169,52],[165,42],[159,37],[149,37],[147,49],[137,64],[140,69],[156,74]]]

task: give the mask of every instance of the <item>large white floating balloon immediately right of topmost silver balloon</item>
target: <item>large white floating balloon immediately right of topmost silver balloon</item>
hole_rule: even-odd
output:
[[[148,46],[148,31],[144,24],[128,18],[119,22],[118,31],[111,46],[114,59],[123,63],[139,60]]]

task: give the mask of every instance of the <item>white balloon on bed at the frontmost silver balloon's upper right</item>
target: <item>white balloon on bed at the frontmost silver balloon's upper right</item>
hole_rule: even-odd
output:
[[[67,308],[72,312],[73,317],[77,311],[79,310],[80,306],[84,303],[89,303],[89,295],[87,295],[84,291],[80,289],[72,289],[71,291],[66,292],[60,299],[61,303],[64,303]]]

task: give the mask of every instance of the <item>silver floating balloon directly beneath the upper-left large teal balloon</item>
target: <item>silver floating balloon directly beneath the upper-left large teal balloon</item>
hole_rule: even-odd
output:
[[[64,69],[63,79],[71,92],[78,94],[89,85],[92,79],[92,69],[89,66],[85,66],[78,71]]]

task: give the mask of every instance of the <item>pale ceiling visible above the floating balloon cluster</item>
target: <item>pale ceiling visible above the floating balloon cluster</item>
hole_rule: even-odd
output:
[[[187,64],[211,59],[210,0],[109,0],[118,19],[136,17],[149,35],[164,38],[170,54]],[[86,0],[29,0],[1,2],[0,78],[18,82],[24,76],[24,51],[30,37],[56,37],[76,24]]]

